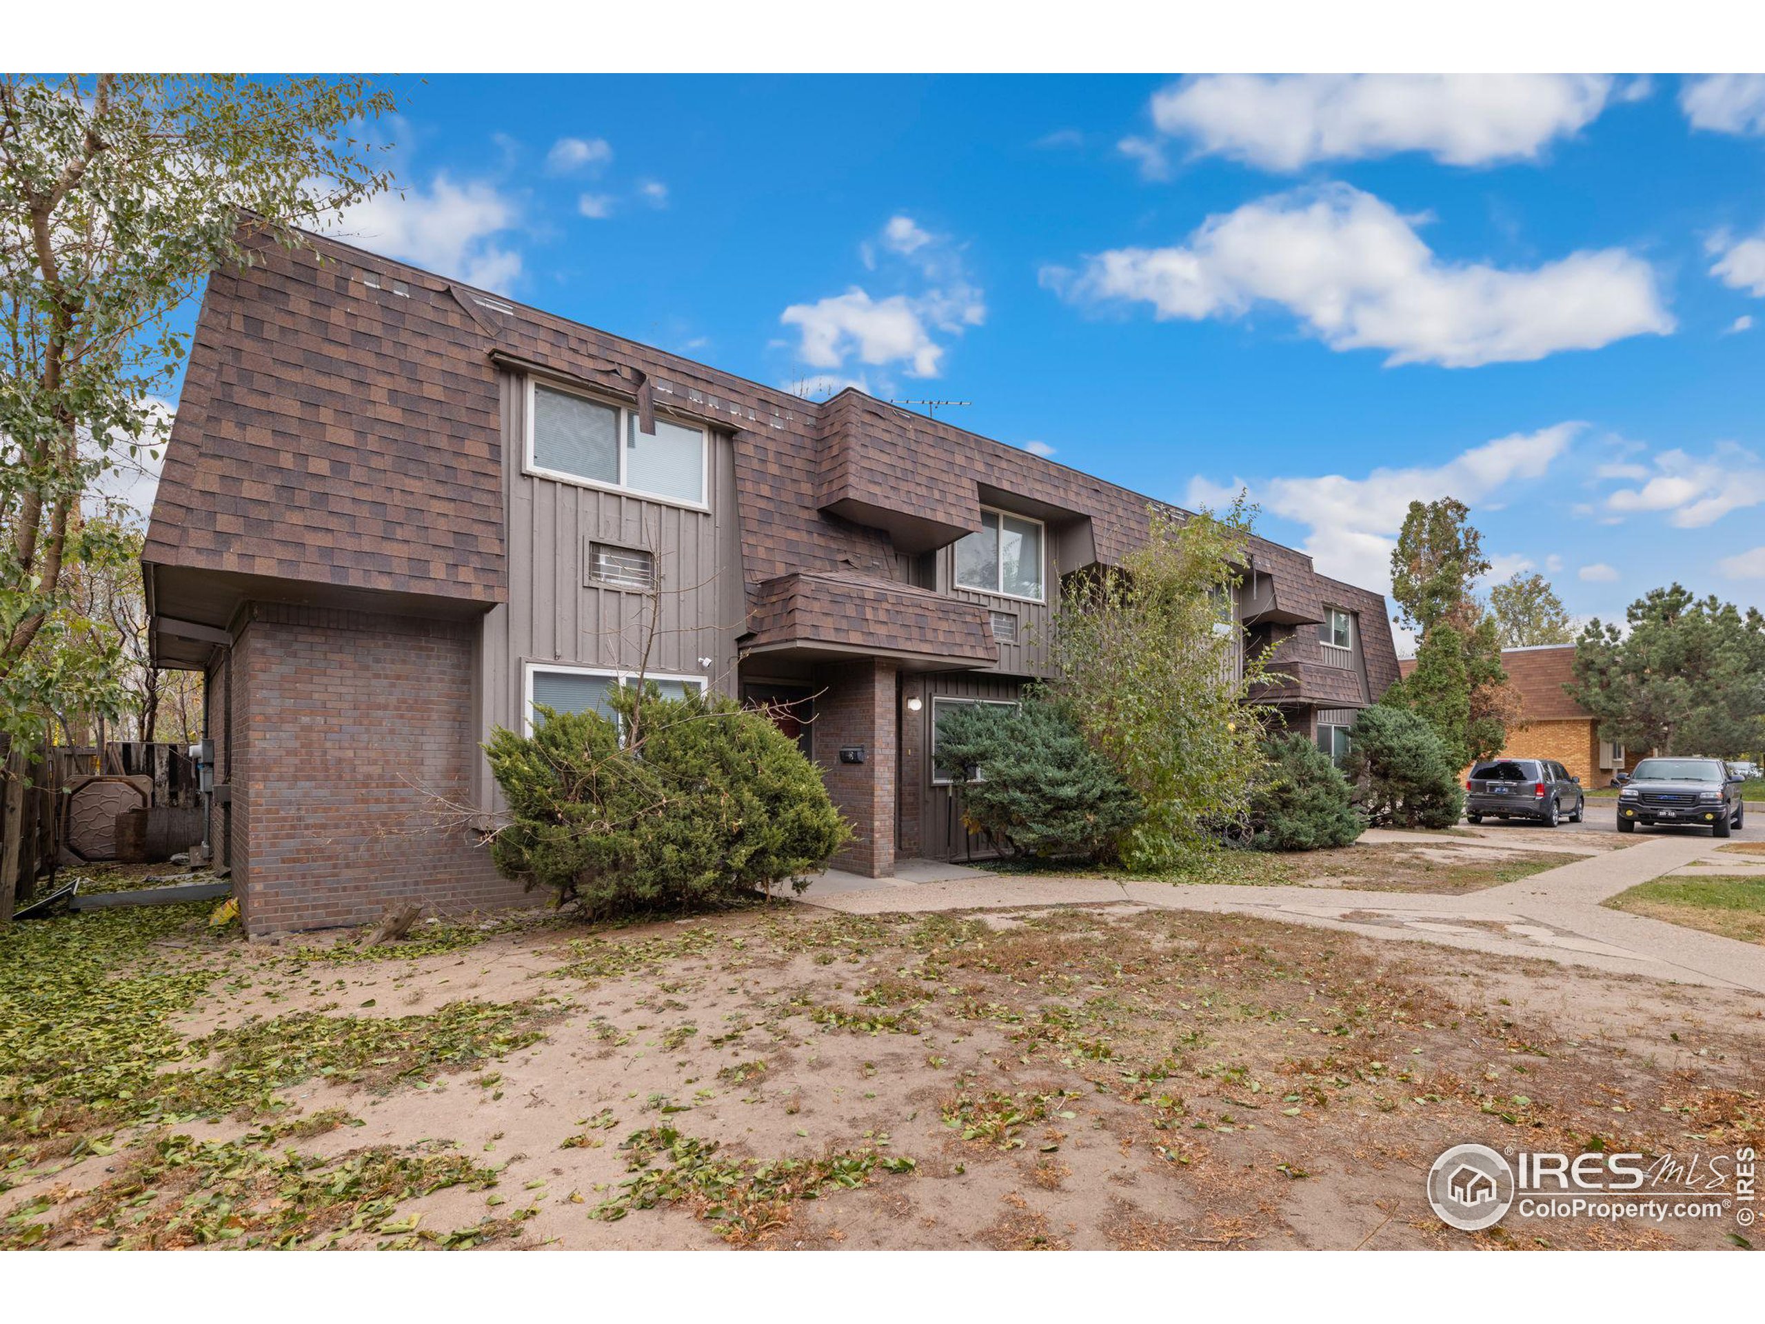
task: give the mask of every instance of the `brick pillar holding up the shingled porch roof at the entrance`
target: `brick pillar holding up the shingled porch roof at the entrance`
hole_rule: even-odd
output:
[[[815,763],[828,796],[852,824],[835,869],[868,877],[895,872],[895,664],[847,662],[817,671]],[[840,763],[842,745],[863,745],[863,763]]]

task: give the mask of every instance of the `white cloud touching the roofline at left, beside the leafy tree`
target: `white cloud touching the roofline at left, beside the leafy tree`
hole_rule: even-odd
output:
[[[383,192],[351,207],[332,233],[484,290],[507,290],[521,279],[521,254],[498,237],[519,222],[515,199],[492,185],[436,175],[427,192]]]

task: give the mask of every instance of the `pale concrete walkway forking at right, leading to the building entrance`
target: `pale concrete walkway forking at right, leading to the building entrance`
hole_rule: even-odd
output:
[[[1356,891],[1311,886],[1128,883],[1103,877],[854,879],[812,886],[800,900],[845,914],[891,914],[1043,906],[1144,906],[1260,914],[1375,939],[1424,941],[1509,957],[1592,966],[1619,974],[1765,992],[1765,946],[1626,914],[1601,906],[1620,891],[1709,860],[1723,842],[1656,837],[1622,851],[1576,858],[1520,883],[1460,895]],[[1721,860],[1721,856],[1714,856]],[[1730,856],[1731,858],[1731,856]],[[950,867],[960,869],[960,867]],[[1735,870],[1740,872],[1740,870]],[[851,876],[847,876],[851,877]],[[840,879],[844,884],[844,879]]]

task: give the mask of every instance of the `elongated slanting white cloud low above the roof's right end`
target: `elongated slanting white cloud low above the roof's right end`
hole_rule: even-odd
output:
[[[1251,485],[1251,500],[1269,514],[1310,528],[1303,547],[1318,572],[1364,588],[1386,588],[1391,583],[1391,553],[1410,501],[1456,496],[1474,507],[1486,503],[1513,484],[1543,478],[1581,429],[1583,424],[1566,422],[1537,433],[1514,433],[1435,468],[1380,468],[1364,478],[1340,473],[1271,478]],[[1220,508],[1243,487],[1246,484],[1239,478],[1230,485],[1195,478],[1188,503]]]

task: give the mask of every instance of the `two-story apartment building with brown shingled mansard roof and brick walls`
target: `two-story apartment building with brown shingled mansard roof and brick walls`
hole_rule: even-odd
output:
[[[1149,500],[845,390],[810,402],[328,240],[215,272],[143,553],[207,673],[212,840],[252,932],[512,900],[480,741],[639,673],[766,704],[837,861],[964,858],[953,704],[1045,676],[1064,575]],[[1377,591],[1257,542],[1267,701],[1334,747],[1396,678]]]

